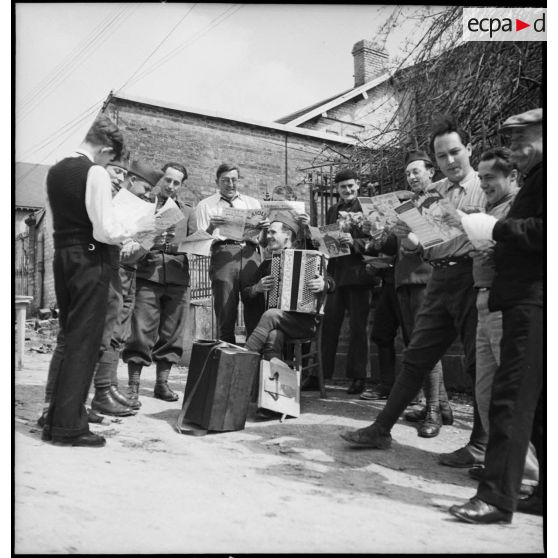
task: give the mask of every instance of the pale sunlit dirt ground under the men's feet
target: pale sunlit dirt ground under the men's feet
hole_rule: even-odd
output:
[[[15,551],[17,553],[521,553],[542,552],[542,518],[509,526],[460,523],[447,508],[473,496],[467,470],[437,454],[468,439],[472,410],[437,438],[400,421],[390,450],[354,450],[339,437],[382,402],[332,386],[327,400],[303,393],[303,414],[284,423],[249,415],[240,432],[191,437],[173,429],[181,402],[151,397],[92,429],[102,449],[41,442],[50,355],[27,353],[16,372]],[[126,370],[119,369],[121,384]],[[183,391],[186,369],[171,375]],[[253,411],[253,409],[252,409]]]

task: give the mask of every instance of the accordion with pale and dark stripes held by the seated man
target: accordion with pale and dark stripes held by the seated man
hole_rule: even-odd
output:
[[[268,292],[267,308],[279,308],[304,314],[323,313],[322,298],[311,293],[308,281],[323,275],[325,257],[316,250],[273,252],[271,276],[275,279]]]

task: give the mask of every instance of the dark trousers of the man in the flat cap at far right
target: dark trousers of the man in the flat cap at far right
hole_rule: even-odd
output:
[[[513,512],[533,434],[533,441],[540,447],[540,436],[533,425],[543,385],[543,309],[518,305],[503,310],[502,326],[500,366],[490,399],[485,469],[477,496]],[[541,457],[539,462],[543,464]]]

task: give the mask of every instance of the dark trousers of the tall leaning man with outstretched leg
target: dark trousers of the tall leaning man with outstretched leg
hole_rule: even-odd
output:
[[[418,393],[426,374],[442,358],[457,335],[463,343],[467,373],[475,385],[476,330],[476,293],[471,263],[461,262],[451,267],[434,268],[416,317],[411,341],[403,353],[403,369],[376,422],[391,430]],[[487,434],[482,428],[475,404],[469,444],[483,453],[486,441]]]

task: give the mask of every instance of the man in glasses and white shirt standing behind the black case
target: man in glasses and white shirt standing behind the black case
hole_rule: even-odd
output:
[[[223,163],[217,169],[218,192],[200,201],[196,207],[198,229],[213,235],[209,277],[213,291],[213,307],[217,318],[217,337],[235,343],[234,327],[238,313],[241,290],[252,283],[261,262],[258,245],[252,241],[237,241],[219,233],[225,223],[222,211],[227,207],[260,209],[260,202],[238,191],[239,169],[236,165]],[[264,219],[260,228],[269,226]],[[244,322],[246,338],[250,336],[264,308],[259,300],[245,299]]]

